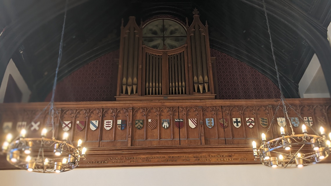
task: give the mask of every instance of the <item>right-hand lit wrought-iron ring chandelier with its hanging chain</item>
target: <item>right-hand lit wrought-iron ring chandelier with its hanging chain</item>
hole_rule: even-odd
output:
[[[276,112],[280,108],[280,104],[282,104],[282,110],[284,112],[284,121],[281,122],[283,125],[280,127],[280,135],[281,137],[271,139],[269,141],[266,140],[266,135],[262,133],[262,143],[259,148],[257,148],[256,142],[253,141],[253,154],[255,160],[260,160],[260,162],[264,165],[270,167],[288,167],[288,166],[297,166],[298,168],[302,168],[305,165],[311,163],[318,163],[327,158],[330,154],[331,142],[327,139],[325,130],[323,127],[320,127],[320,135],[314,131],[311,127],[309,121],[305,121],[300,114],[298,114],[292,107],[289,105],[291,109],[303,120],[306,125],[315,133],[315,135],[308,134],[307,126],[305,124],[302,125],[303,134],[295,134],[293,131],[292,122],[288,116],[288,111],[286,108],[286,104],[284,103],[285,99],[283,96],[279,73],[277,69],[276,59],[272,46],[271,33],[269,28],[268,16],[265,8],[265,2],[263,0],[263,9],[266,18],[266,24],[268,27],[268,33],[270,37],[270,45],[272,57],[275,63],[275,69],[277,73],[278,85],[281,93],[281,100],[279,102],[278,107],[276,108]],[[275,114],[276,114],[275,112]],[[271,120],[271,124],[273,123],[275,114]],[[286,134],[284,130],[284,126],[289,124],[291,128],[291,134]],[[271,126],[270,124],[270,126]],[[267,129],[267,132],[270,130],[270,126]],[[331,132],[329,133],[328,138],[331,140]]]

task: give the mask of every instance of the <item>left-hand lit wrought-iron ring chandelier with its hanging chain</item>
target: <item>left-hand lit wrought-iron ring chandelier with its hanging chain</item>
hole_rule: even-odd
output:
[[[45,126],[52,125],[52,138],[46,138],[47,129],[42,129],[41,137],[26,138],[27,125],[21,130],[19,137],[13,140],[12,134],[7,134],[6,141],[2,145],[2,153],[7,154],[7,161],[12,165],[33,172],[59,173],[76,168],[81,159],[85,159],[86,148],[82,148],[82,141],[79,139],[77,146],[70,143],[69,134],[65,132],[62,140],[54,137],[54,115],[58,114],[54,108],[54,95],[57,82],[57,74],[62,58],[63,35],[67,16],[68,0],[66,0],[64,22],[62,27],[59,58],[55,71],[51,102],[43,109],[49,107],[48,120]],[[41,113],[42,113],[41,112]],[[36,116],[37,119],[40,114]],[[35,120],[34,119],[34,120]],[[34,122],[34,120],[32,122]],[[32,123],[31,122],[31,123]]]

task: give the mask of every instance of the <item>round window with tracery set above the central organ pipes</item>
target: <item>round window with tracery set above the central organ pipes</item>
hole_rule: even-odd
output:
[[[186,29],[181,24],[170,19],[157,19],[147,23],[143,28],[144,45],[154,48],[174,49],[186,42]]]

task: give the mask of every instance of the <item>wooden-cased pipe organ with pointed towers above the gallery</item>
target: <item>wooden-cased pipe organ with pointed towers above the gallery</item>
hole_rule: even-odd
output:
[[[208,25],[156,19],[121,25],[116,100],[215,99]]]

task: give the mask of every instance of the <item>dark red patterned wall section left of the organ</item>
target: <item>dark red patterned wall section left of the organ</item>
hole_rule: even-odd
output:
[[[56,102],[115,101],[119,50],[84,65],[58,82]],[[51,93],[45,101],[51,100]]]

